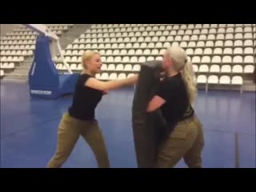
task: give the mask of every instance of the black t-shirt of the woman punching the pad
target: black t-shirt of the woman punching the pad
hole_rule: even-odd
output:
[[[94,77],[89,74],[82,74],[78,78],[69,114],[73,118],[92,121],[95,120],[95,108],[102,99],[103,91],[85,86],[89,78]]]

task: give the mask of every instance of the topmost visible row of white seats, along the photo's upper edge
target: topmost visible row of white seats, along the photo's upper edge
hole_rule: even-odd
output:
[[[94,24],[91,29],[99,28],[118,28],[118,27],[141,27],[141,26],[168,26],[170,29],[202,29],[202,28],[218,28],[218,27],[235,27],[235,26],[253,26],[252,24],[189,24],[189,25],[175,25],[175,24]]]

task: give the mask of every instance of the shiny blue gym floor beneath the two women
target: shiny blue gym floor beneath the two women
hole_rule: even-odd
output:
[[[96,110],[111,167],[136,167],[133,91],[110,92]],[[1,82],[1,167],[45,167],[54,154],[58,123],[70,102],[71,96],[31,99],[27,84]],[[255,167],[255,93],[199,91],[194,108],[205,129],[204,167]],[[97,167],[82,138],[63,167]],[[186,165],[181,161],[176,167]]]

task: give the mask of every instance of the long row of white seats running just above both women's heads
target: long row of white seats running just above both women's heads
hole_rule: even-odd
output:
[[[149,42],[149,43],[146,43],[146,42],[134,42],[134,43],[130,43],[130,42],[126,42],[126,43],[123,43],[123,42],[119,42],[119,43],[115,43],[115,42],[112,42],[112,43],[109,43],[109,42],[105,42],[102,43],[102,42],[94,42],[94,44],[70,44],[66,47],[66,50],[80,50],[80,49],[141,49],[141,48],[151,48],[151,49],[154,49],[154,48],[166,48],[166,47],[169,47],[169,46],[181,46],[181,47],[187,47],[187,48],[194,48],[197,46],[197,44],[199,43],[196,43],[196,42]],[[199,44],[200,45],[200,44]],[[214,47],[214,42],[206,42],[206,43],[202,43],[201,45],[205,45],[205,46],[200,46],[200,47]],[[234,43],[232,41],[226,41],[225,43],[223,42],[218,42],[215,43],[215,47],[226,47],[226,46],[229,46],[229,47],[247,47],[247,46],[254,46],[254,42],[252,40],[246,40],[246,41],[242,41],[242,40],[237,40],[237,41],[234,41]]]

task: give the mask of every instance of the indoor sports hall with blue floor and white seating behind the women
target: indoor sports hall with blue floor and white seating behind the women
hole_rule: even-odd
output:
[[[49,47],[41,36],[50,37]],[[86,50],[100,54],[101,73],[95,78],[106,82],[139,74],[143,62],[162,61],[170,46],[182,47],[193,65],[198,87],[193,107],[205,139],[202,166],[256,167],[256,24],[1,24],[0,44],[2,168],[47,166]],[[52,96],[44,83],[57,87]],[[95,110],[111,168],[138,167],[135,89],[110,91]],[[62,165],[97,166],[82,137]],[[181,160],[174,167],[187,166]]]

